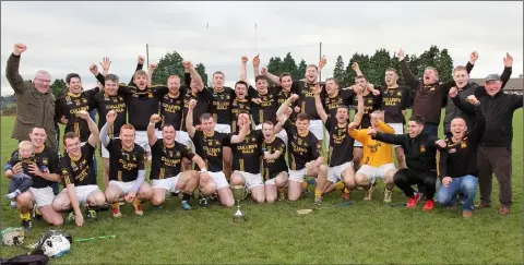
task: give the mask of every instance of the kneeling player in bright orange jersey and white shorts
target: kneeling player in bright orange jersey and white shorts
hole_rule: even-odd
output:
[[[374,136],[377,131],[395,133],[395,130],[384,123],[384,112],[380,110],[371,113],[371,128],[361,130],[355,130],[355,128],[356,124],[349,124],[349,135],[364,145],[362,166],[355,174],[357,185],[367,191],[365,200],[369,201],[372,198],[373,183],[377,179],[383,179],[385,184],[384,203],[390,203],[395,185],[393,176],[396,172],[392,146],[373,140],[371,135]]]

